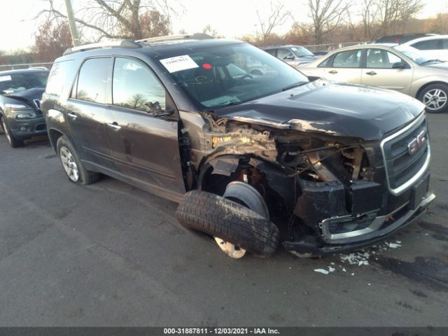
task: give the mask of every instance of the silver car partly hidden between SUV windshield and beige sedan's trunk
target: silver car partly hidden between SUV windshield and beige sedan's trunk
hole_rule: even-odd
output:
[[[314,55],[311,51],[301,45],[267,45],[260,47],[260,49],[281,59],[290,66],[301,66],[318,59],[318,56]]]

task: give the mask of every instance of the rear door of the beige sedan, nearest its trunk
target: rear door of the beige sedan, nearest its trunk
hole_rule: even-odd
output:
[[[325,64],[322,77],[335,80],[338,83],[361,83],[361,56],[362,49],[353,49],[337,52]]]

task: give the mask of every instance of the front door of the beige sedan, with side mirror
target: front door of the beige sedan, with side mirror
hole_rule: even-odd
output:
[[[405,64],[405,69],[393,69],[393,64]],[[414,68],[394,52],[371,48],[365,53],[362,84],[409,94]]]

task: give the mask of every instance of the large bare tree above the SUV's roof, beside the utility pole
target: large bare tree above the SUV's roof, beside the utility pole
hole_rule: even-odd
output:
[[[66,19],[53,0],[48,0],[48,6],[39,15],[48,13],[53,20]],[[76,11],[75,21],[81,30],[93,33],[96,40],[104,37],[139,39],[170,33],[174,13],[168,0],[88,0]]]

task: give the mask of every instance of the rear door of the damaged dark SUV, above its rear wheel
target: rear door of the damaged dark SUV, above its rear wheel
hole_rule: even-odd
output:
[[[106,127],[113,123],[113,115],[105,106],[110,99],[107,86],[111,70],[111,57],[86,59],[66,111],[71,138],[83,159],[109,169],[114,166]]]

